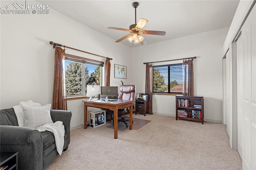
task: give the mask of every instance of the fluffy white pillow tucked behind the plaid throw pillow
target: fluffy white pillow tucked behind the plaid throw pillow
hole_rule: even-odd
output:
[[[17,117],[18,125],[20,127],[24,127],[24,122],[25,122],[25,117],[24,117],[22,106],[38,107],[41,105],[40,105],[40,103],[34,103],[32,100],[28,100],[28,101],[22,101],[22,102],[20,102],[20,105],[13,107],[14,112]]]

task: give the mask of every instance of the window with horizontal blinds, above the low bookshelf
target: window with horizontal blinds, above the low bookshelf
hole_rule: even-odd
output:
[[[182,68],[182,63],[153,66],[153,93],[182,94],[184,83]]]

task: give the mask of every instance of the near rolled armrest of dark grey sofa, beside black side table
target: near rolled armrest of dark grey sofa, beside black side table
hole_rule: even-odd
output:
[[[0,139],[1,152],[19,152],[19,169],[43,169],[43,140],[38,130],[0,125]]]

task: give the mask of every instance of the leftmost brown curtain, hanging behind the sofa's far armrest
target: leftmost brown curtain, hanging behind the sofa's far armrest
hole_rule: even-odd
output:
[[[65,49],[55,47],[52,109],[57,110],[67,110],[63,60],[65,60]]]

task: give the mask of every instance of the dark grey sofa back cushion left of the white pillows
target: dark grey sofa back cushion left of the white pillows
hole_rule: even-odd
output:
[[[18,126],[14,109],[2,109],[0,113],[0,125]]]

